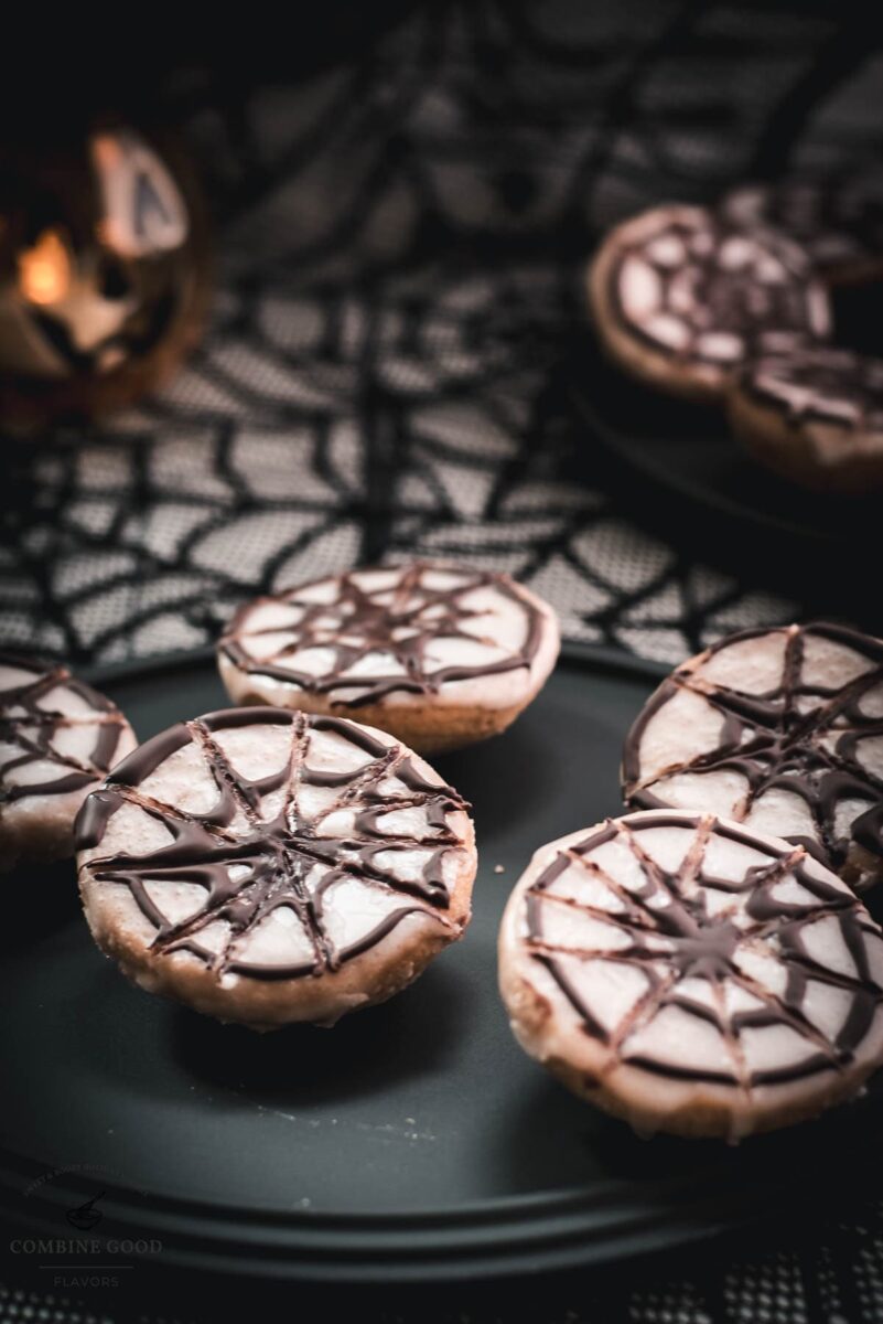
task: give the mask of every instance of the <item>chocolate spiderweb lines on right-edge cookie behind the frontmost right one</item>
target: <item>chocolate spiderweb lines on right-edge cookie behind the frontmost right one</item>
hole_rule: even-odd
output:
[[[714,658],[731,645],[783,637],[779,686],[767,694],[743,694],[703,678],[703,667],[682,667],[664,681],[632,727],[624,751],[625,797],[636,809],[668,808],[665,781],[682,773],[698,779],[731,771],[740,775],[746,792],[728,810],[747,820],[768,792],[798,796],[812,818],[812,835],[788,835],[822,863],[843,870],[847,880],[861,873],[847,863],[851,842],[875,859],[883,857],[883,780],[861,761],[861,743],[868,749],[883,737],[883,643],[834,625],[790,626],[784,630],[744,630],[710,650]],[[806,642],[827,641],[850,649],[864,670],[842,686],[825,687],[804,679]],[[642,776],[642,741],[649,723],[666,703],[689,691],[720,714],[719,741],[652,776]],[[675,720],[673,718],[673,720]],[[695,800],[701,782],[691,786]],[[855,802],[864,808],[857,808]],[[851,813],[845,825],[843,814]]]

